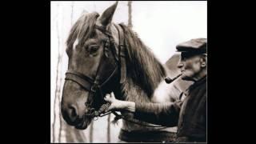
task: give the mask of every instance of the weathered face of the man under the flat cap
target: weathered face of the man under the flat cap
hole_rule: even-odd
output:
[[[183,80],[194,80],[203,66],[205,66],[205,62],[200,54],[182,52],[178,68],[181,69]]]

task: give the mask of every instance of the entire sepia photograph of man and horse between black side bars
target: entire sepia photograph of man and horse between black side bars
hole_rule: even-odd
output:
[[[207,143],[207,1],[51,1],[50,142]]]

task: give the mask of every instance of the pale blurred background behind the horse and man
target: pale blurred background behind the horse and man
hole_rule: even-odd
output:
[[[50,142],[117,142],[122,121],[98,118],[86,130],[68,126],[60,113],[67,70],[66,38],[82,12],[102,14],[114,1],[50,2]],[[207,2],[120,1],[114,23],[130,26],[162,64],[178,59],[175,46],[191,38],[207,38]],[[168,66],[173,66],[168,64]]]

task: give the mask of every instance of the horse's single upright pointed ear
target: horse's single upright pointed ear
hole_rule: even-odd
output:
[[[110,6],[109,8],[107,8],[103,14],[98,18],[98,21],[102,24],[102,26],[107,26],[114,15],[114,11],[116,10],[118,6],[118,1],[114,3],[114,5]]]

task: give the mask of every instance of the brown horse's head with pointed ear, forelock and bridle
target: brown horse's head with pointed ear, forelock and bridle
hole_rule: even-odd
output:
[[[102,15],[82,14],[70,30],[66,54],[68,70],[63,86],[61,111],[65,121],[86,129],[104,103],[104,95],[120,82],[118,29],[111,23],[118,2]]]

